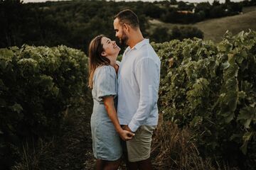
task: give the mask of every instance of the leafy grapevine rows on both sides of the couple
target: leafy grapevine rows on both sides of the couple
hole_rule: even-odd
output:
[[[210,167],[224,162],[230,168],[256,169],[256,32],[227,32],[218,44],[195,38],[152,45],[161,58],[159,114],[164,121],[154,136],[156,167],[196,169],[178,164],[175,148],[163,150],[172,144],[161,142],[173,136],[160,130],[169,128],[188,130],[189,135],[180,136],[187,139],[181,147],[193,144],[200,159],[210,159]],[[1,49],[0,166],[20,162],[28,138],[58,135],[73,101],[90,100],[86,84],[87,57],[80,50]]]

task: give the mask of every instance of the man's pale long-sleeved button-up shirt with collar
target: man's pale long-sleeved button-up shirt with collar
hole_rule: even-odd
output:
[[[121,125],[136,132],[158,123],[160,60],[148,39],[127,47],[118,71],[117,114]]]

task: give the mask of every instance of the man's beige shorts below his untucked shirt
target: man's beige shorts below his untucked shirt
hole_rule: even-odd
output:
[[[151,140],[156,125],[142,125],[132,140],[126,142],[129,162],[139,162],[150,157]]]

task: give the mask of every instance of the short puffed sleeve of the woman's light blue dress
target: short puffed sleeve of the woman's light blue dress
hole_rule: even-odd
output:
[[[112,69],[110,66],[98,68],[94,79],[97,98],[102,99],[105,96],[116,96],[116,81],[114,68]]]

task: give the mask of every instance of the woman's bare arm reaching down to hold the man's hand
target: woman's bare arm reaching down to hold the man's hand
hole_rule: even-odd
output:
[[[117,130],[122,140],[132,140],[134,133],[129,132],[127,130],[123,130],[121,128],[121,125],[119,124],[119,120],[117,118],[117,111],[114,108],[114,97],[113,96],[104,97],[103,102],[107,110],[107,115],[110,117],[110,120],[114,125],[114,128]]]

